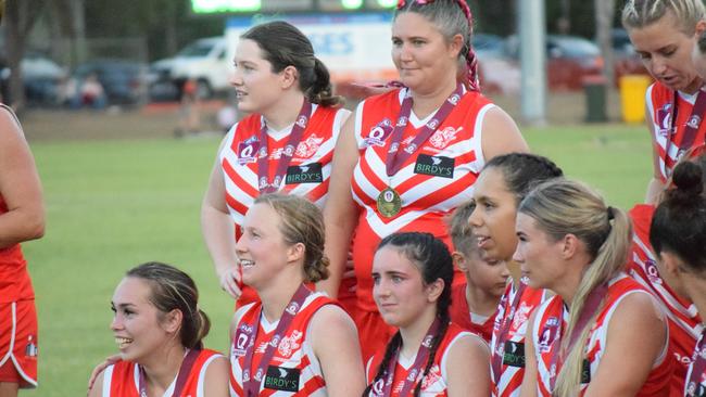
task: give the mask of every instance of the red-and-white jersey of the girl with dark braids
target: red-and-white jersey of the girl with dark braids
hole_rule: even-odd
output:
[[[427,376],[425,376],[421,380],[421,389],[419,393],[420,397],[442,397],[449,395],[446,390],[447,388],[446,379],[449,377],[446,375],[446,357],[456,341],[458,341],[462,337],[466,337],[470,335],[471,333],[464,331],[461,326],[454,324],[453,322],[449,324],[446,334],[441,340],[441,344],[437,349],[437,354],[433,359],[433,364],[431,366],[431,369],[429,370]],[[472,335],[472,337],[479,337],[479,336]],[[384,351],[378,351],[368,361],[365,371],[366,379],[368,382],[373,382],[375,375],[378,373],[378,368],[380,367],[380,362],[382,361],[383,356],[384,356]],[[402,357],[398,359],[398,364],[394,367],[394,377],[392,381],[392,390],[391,390],[392,393],[390,397],[404,397],[400,395],[400,392],[402,392],[404,380],[407,379],[407,376],[409,375],[409,370],[412,370],[412,366],[414,364],[415,358],[416,356],[412,357],[408,360],[405,360]],[[425,362],[424,367],[426,366],[427,363]],[[424,367],[423,370],[419,371],[419,374],[417,375],[417,382],[419,381],[419,377],[424,373]],[[370,397],[382,396],[384,389],[383,383],[384,380],[378,380],[375,383],[375,385],[373,385],[369,396]],[[416,383],[415,383],[415,387],[416,387]]]

